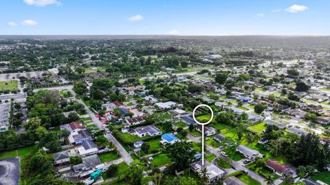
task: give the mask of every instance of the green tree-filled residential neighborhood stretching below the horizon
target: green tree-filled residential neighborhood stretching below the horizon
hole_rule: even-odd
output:
[[[215,39],[0,40],[0,184],[330,184],[329,47]]]

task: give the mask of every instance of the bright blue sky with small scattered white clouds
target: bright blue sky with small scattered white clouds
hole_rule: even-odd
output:
[[[0,0],[0,34],[330,35],[330,1]]]

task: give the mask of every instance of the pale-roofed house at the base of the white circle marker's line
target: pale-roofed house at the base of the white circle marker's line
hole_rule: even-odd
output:
[[[207,160],[204,161],[204,164],[202,164],[201,160],[194,162],[190,164],[190,168],[199,176],[202,175],[201,170],[203,168],[206,168],[206,170],[208,171],[207,184],[214,184],[216,182],[219,182],[219,180],[225,175],[225,171],[221,170],[221,168],[219,168],[218,166],[211,164]]]

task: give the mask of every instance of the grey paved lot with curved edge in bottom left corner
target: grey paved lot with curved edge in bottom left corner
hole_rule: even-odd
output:
[[[19,184],[19,158],[0,160],[0,185]]]

